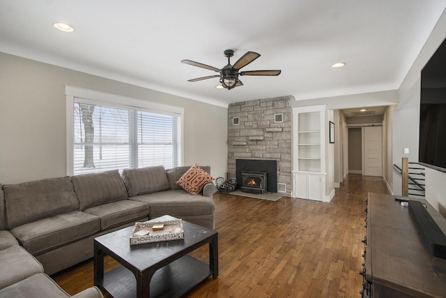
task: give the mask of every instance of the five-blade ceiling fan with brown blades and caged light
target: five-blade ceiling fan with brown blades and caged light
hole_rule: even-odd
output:
[[[184,64],[190,64],[192,66],[198,66],[201,68],[206,68],[210,70],[214,70],[216,73],[220,73],[220,75],[208,75],[207,77],[197,77],[196,79],[187,80],[188,82],[197,82],[201,80],[211,79],[213,77],[220,77],[220,83],[222,87],[225,89],[233,89],[234,87],[242,86],[243,83],[238,80],[240,75],[280,75],[281,70],[249,70],[249,71],[238,71],[240,68],[243,68],[250,64],[252,61],[260,57],[260,54],[256,52],[246,52],[240,59],[237,60],[236,64],[231,65],[231,57],[233,57],[233,50],[224,51],[224,56],[228,57],[228,64],[224,66],[222,69],[215,68],[213,66],[208,66],[206,64],[201,64],[199,62],[191,61],[191,60],[181,60]]]

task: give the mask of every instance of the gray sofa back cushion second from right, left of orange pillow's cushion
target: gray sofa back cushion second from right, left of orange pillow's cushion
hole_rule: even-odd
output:
[[[162,165],[123,170],[128,196],[167,191],[170,188],[166,170]]]

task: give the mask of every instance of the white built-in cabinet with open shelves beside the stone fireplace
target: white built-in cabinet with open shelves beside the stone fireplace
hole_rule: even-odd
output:
[[[293,107],[293,198],[325,201],[325,105]]]

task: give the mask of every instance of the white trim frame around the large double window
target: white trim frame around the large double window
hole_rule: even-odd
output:
[[[105,105],[121,109],[137,109],[154,114],[164,114],[178,117],[178,144],[177,144],[177,163],[183,165],[184,158],[184,108],[154,103],[148,100],[131,98],[107,92],[84,89],[66,85],[66,172],[68,176],[74,174],[74,103],[90,103],[95,105]],[[76,98],[76,100],[75,100]]]

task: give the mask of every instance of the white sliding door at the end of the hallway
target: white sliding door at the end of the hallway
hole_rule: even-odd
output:
[[[364,127],[364,175],[383,177],[383,127]]]

